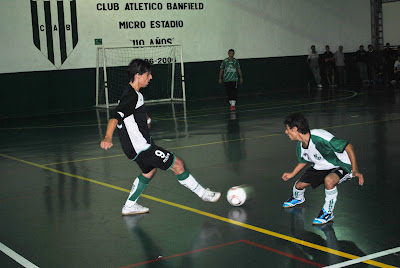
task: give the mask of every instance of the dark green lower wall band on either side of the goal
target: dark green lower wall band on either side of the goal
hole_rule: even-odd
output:
[[[348,77],[357,77],[347,55]],[[306,56],[242,59],[244,83],[240,94],[282,88],[305,88],[313,81]],[[218,84],[220,61],[185,64],[188,100],[225,96]],[[0,118],[88,109],[95,104],[95,69],[0,74]],[[357,78],[350,79],[357,83]]]

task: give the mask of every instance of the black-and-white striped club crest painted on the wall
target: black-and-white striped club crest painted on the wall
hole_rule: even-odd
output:
[[[78,44],[76,0],[30,0],[33,44],[60,69]]]

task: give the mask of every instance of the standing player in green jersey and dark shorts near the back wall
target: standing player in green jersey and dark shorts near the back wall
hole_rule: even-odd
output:
[[[238,75],[240,77],[240,84],[243,83],[242,70],[240,69],[239,61],[233,56],[235,56],[235,50],[229,49],[228,58],[222,61],[219,71],[219,83],[222,84],[223,75],[226,94],[228,95],[228,100],[231,105],[231,111],[235,111],[236,109]]]

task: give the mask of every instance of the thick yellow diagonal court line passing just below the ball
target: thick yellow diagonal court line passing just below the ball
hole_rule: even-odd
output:
[[[42,169],[45,169],[45,170],[49,170],[49,171],[52,171],[52,172],[55,172],[55,173],[58,173],[58,174],[62,174],[62,175],[68,176],[68,177],[73,177],[73,178],[76,178],[76,179],[89,181],[89,182],[92,182],[92,183],[95,183],[95,184],[99,184],[99,185],[102,185],[102,186],[105,186],[105,187],[109,187],[109,188],[112,188],[112,189],[115,189],[115,190],[119,190],[119,191],[122,191],[122,192],[130,193],[130,190],[128,190],[128,189],[124,189],[122,187],[118,187],[118,186],[115,186],[115,185],[112,185],[112,184],[108,184],[108,183],[104,183],[104,182],[101,182],[101,181],[85,178],[85,177],[82,177],[82,176],[79,176],[79,175],[74,175],[74,174],[67,173],[67,172],[64,172],[64,171],[60,171],[60,170],[57,170],[57,169],[54,169],[54,168],[49,168],[49,167],[46,167],[46,166],[43,166],[43,165],[40,165],[40,164],[29,162],[29,161],[26,161],[26,160],[23,160],[23,159],[19,159],[19,158],[13,157],[13,156],[5,155],[5,154],[2,154],[2,153],[0,153],[0,156],[3,156],[3,157],[8,158],[8,159],[15,160],[15,161],[18,161],[18,162],[21,162],[21,163],[25,163],[25,164],[28,164],[28,165],[31,165],[31,166],[39,167],[39,168],[42,168]],[[209,218],[213,218],[213,219],[216,219],[216,220],[219,220],[219,221],[223,221],[223,222],[227,222],[227,223],[230,223],[230,224],[233,224],[233,225],[237,225],[237,226],[249,229],[249,230],[253,230],[255,232],[259,232],[259,233],[266,234],[266,235],[269,235],[269,236],[272,236],[272,237],[280,238],[282,240],[286,240],[286,241],[289,241],[289,242],[292,242],[292,243],[295,243],[295,244],[299,244],[299,245],[302,245],[302,246],[306,246],[306,247],[309,247],[309,248],[313,248],[313,249],[316,249],[316,250],[327,252],[327,253],[330,253],[330,254],[333,254],[333,255],[337,255],[337,256],[340,256],[340,257],[343,257],[343,258],[347,258],[347,259],[360,258],[359,256],[356,256],[356,255],[353,255],[353,254],[349,254],[349,253],[345,253],[345,252],[342,252],[342,251],[339,251],[339,250],[335,250],[335,249],[331,249],[331,248],[328,248],[328,247],[320,246],[320,245],[317,245],[317,244],[314,244],[314,243],[311,243],[311,242],[307,242],[307,241],[304,241],[304,240],[301,240],[301,239],[297,239],[297,238],[294,238],[294,237],[291,237],[291,236],[288,236],[288,235],[283,235],[283,234],[280,234],[280,233],[277,233],[277,232],[273,232],[273,231],[269,231],[267,229],[263,229],[263,228],[260,228],[260,227],[257,227],[257,226],[253,226],[253,225],[250,225],[250,224],[247,224],[247,223],[242,223],[242,222],[239,222],[239,221],[235,221],[235,220],[231,220],[231,219],[228,219],[228,218],[224,218],[224,217],[221,217],[221,216],[209,213],[209,212],[205,212],[205,211],[202,211],[202,210],[199,210],[199,209],[187,207],[187,206],[184,206],[184,205],[181,205],[181,204],[178,204],[178,203],[174,203],[174,202],[170,202],[170,201],[167,201],[167,200],[163,200],[163,199],[160,199],[160,198],[157,198],[157,197],[154,197],[154,196],[142,194],[141,197],[144,197],[144,198],[147,198],[147,199],[150,199],[150,200],[162,203],[162,204],[170,205],[172,207],[176,207],[176,208],[180,208],[180,209],[183,209],[183,210],[191,211],[193,213],[196,213],[196,214],[199,214],[199,215],[203,215],[203,216],[206,216],[206,217],[209,217]],[[395,268],[395,266],[387,265],[387,264],[384,264],[384,263],[381,263],[381,262],[377,262],[377,261],[372,261],[372,260],[366,260],[364,262],[368,263],[368,264],[371,264],[371,265],[374,265],[374,266],[377,266],[377,267]]]

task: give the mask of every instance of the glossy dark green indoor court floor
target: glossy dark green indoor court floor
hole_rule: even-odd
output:
[[[117,135],[100,149],[107,110],[2,119],[0,267],[322,267],[366,255],[351,267],[400,266],[398,88],[277,89],[240,96],[236,113],[224,99],[147,108],[156,144],[221,200],[203,202],[158,171],[139,199],[150,213],[122,217],[140,170]],[[282,208],[295,179],[281,176],[297,163],[283,118],[295,111],[351,142],[365,176],[363,187],[338,187],[326,226],[312,225],[323,187]],[[241,184],[255,195],[232,207],[226,191]]]

